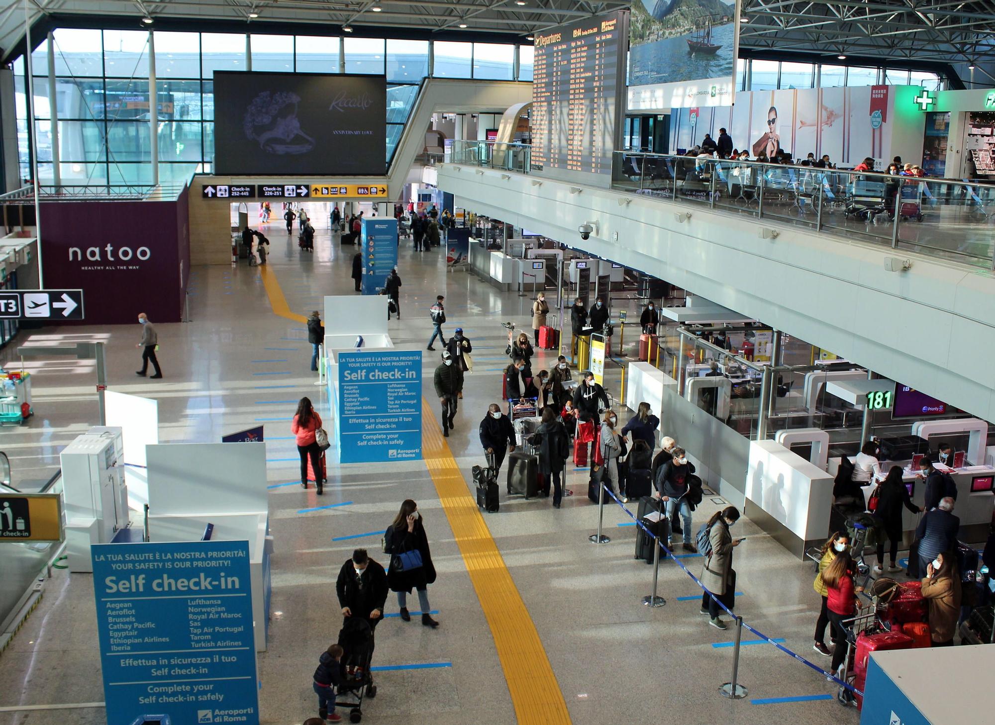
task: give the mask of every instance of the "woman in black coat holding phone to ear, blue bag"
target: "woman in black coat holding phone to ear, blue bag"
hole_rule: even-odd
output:
[[[439,623],[429,614],[428,586],[435,582],[435,566],[432,564],[432,552],[429,550],[429,539],[422,523],[422,514],[418,504],[410,498],[401,504],[393,522],[384,532],[384,551],[390,554],[390,566],[387,574],[387,584],[391,592],[397,594],[397,606],[401,611],[401,619],[411,622],[408,612],[408,595],[411,590],[418,591],[418,604],[422,608],[422,624],[435,629]],[[401,554],[417,551],[421,555],[421,564],[412,565],[409,560],[405,568]]]

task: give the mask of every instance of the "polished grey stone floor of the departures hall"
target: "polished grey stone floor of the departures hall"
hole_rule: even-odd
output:
[[[307,314],[320,308],[322,295],[351,293],[353,248],[319,235],[313,255],[298,252],[296,239],[268,231],[274,272],[291,309]],[[528,300],[503,292],[467,272],[447,272],[440,252],[417,254],[402,245],[400,273],[403,319],[390,323],[395,344],[424,349],[431,331],[428,307],[437,293],[447,297],[446,334],[462,325],[475,345],[476,371],[468,376],[449,448],[470,483],[470,467],[481,461],[478,424],[487,405],[500,395],[506,332],[513,320],[528,326]],[[550,293],[554,299],[554,293]],[[628,296],[628,293],[620,293]],[[627,303],[620,300],[619,304]],[[630,310],[633,310],[630,307]],[[140,310],[135,310],[137,313]],[[192,321],[159,327],[159,353],[165,379],[134,375],[137,325],[110,328],[53,328],[28,335],[32,341],[102,339],[108,344],[112,390],[154,397],[159,402],[161,440],[217,441],[226,433],[265,423],[267,437],[286,438],[289,419],[302,395],[326,413],[327,401],[308,372],[309,347],[301,323],[274,314],[255,269],[244,265],[199,268],[192,272]],[[533,367],[554,359],[539,352]],[[258,362],[261,360],[269,362]],[[430,376],[437,358],[426,353]],[[58,453],[96,423],[92,364],[40,360],[35,373],[36,417],[20,429],[0,430],[0,449],[11,455],[14,484],[48,477]],[[609,371],[608,387],[618,390],[619,372]],[[431,378],[425,397],[434,400]],[[432,406],[428,415],[437,415]],[[628,413],[621,417],[628,418]],[[664,433],[668,433],[664,422]],[[261,708],[267,725],[300,723],[314,714],[309,677],[317,654],[335,637],[340,615],[334,578],[356,546],[379,556],[380,532],[401,500],[419,502],[433,547],[438,581],[429,589],[442,623],[437,631],[417,621],[384,621],[377,630],[375,664],[451,663],[451,666],[385,671],[379,694],[364,707],[364,721],[441,725],[482,722],[537,722],[516,715],[488,620],[482,614],[467,563],[443,513],[443,503],[426,465],[349,465],[330,470],[331,482],[318,499],[313,489],[292,483],[298,474],[293,440],[267,444],[273,558],[273,622],[269,650],[259,656]],[[617,505],[605,511],[609,544],[588,542],[597,508],[586,492],[586,471],[572,471],[577,493],[562,509],[549,499],[501,501],[485,521],[503,563],[539,634],[556,686],[575,723],[798,725],[857,723],[856,710],[832,699],[753,704],[753,698],[825,697],[835,692],[825,678],[775,647],[742,648],[739,679],[749,697],[729,701],[717,692],[730,675],[733,632],[707,626],[697,614],[695,583],[671,560],[660,568],[660,594],[667,605],[641,604],[650,593],[652,569],[633,560],[635,529],[617,526],[630,519]],[[350,505],[300,514],[298,509],[341,501]],[[697,520],[716,507],[708,498]],[[819,600],[812,590],[811,565],[790,557],[748,520],[738,524],[748,541],[736,550],[737,611],[759,631],[783,637],[786,646],[828,665],[811,648]],[[341,539],[341,537],[355,537]],[[335,540],[340,539],[340,540]],[[696,574],[700,558],[682,560]],[[687,599],[683,599],[687,598]],[[388,613],[396,613],[393,599]],[[89,575],[57,572],[39,608],[0,654],[0,725],[102,723],[100,707],[69,710],[3,708],[100,703],[100,657]],[[743,639],[754,639],[744,633]],[[179,725],[179,724],[178,724]],[[182,724],[185,725],[185,724]]]

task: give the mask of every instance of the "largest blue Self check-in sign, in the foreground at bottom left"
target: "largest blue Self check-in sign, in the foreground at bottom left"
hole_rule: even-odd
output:
[[[249,542],[91,555],[107,725],[259,725]]]

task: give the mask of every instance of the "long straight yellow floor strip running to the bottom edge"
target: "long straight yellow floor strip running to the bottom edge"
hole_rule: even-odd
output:
[[[422,400],[422,453],[495,638],[519,725],[570,722],[556,675],[439,423]]]

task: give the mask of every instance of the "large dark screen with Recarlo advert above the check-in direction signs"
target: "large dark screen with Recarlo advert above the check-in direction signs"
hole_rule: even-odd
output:
[[[387,82],[342,74],[214,74],[217,174],[382,175]]]

